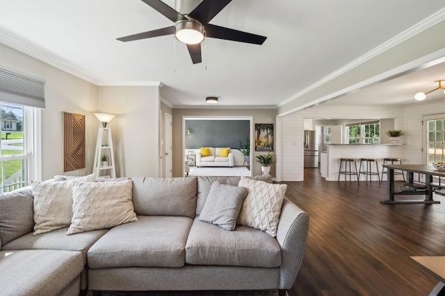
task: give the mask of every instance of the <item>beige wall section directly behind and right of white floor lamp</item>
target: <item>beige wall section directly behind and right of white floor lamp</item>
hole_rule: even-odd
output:
[[[100,112],[115,114],[113,133],[118,177],[159,177],[159,87],[101,86]],[[99,127],[99,125],[97,125]]]

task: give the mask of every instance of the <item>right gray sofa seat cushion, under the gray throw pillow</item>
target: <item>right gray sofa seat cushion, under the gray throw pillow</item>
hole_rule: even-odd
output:
[[[266,232],[242,225],[227,232],[195,218],[188,234],[186,263],[273,268],[281,265],[281,249]]]

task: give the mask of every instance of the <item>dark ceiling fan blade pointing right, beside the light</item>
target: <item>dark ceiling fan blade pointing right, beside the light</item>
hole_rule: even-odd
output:
[[[212,24],[207,24],[206,36],[212,38],[218,38],[223,40],[232,40],[236,42],[244,42],[251,44],[263,44],[267,37],[255,35],[251,33],[246,33],[243,31],[237,31],[230,28],[215,26]]]

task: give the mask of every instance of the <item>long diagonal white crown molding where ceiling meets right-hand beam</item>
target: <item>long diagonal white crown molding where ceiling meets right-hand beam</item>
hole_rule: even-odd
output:
[[[430,28],[431,26],[434,26],[435,24],[439,23],[440,21],[443,21],[444,19],[445,19],[445,8],[435,12],[435,14],[430,15],[430,17],[427,17],[426,19],[423,19],[423,21],[420,21],[419,23],[415,24],[411,28],[408,28],[407,30],[403,31],[402,33],[391,38],[387,42],[380,44],[380,46],[375,47],[375,49],[369,51],[368,53],[365,53],[364,55],[357,58],[356,60],[353,60],[353,62],[350,62],[349,64],[346,64],[344,67],[341,67],[337,71],[332,72],[330,75],[326,76],[325,78],[318,80],[313,85],[310,85],[309,87],[307,87],[305,89],[302,89],[302,91],[298,92],[297,94],[294,94],[290,98],[287,98],[286,100],[277,104],[277,107],[286,105],[287,103],[290,103],[291,101],[295,100],[296,98],[299,98],[300,96],[307,94],[308,92],[311,92],[312,90],[316,89],[317,87],[320,87],[321,85],[325,84],[326,82],[328,82],[334,78],[337,78],[338,76],[341,76],[343,73],[350,71],[351,69],[357,67],[359,64],[362,64],[362,63],[366,62],[367,60],[370,60],[371,58],[374,58],[375,56],[380,55],[381,53],[384,53],[388,49],[391,49],[392,47],[394,47],[398,44],[401,44],[405,40],[410,39],[414,35],[421,33],[422,31],[426,30],[427,28]]]

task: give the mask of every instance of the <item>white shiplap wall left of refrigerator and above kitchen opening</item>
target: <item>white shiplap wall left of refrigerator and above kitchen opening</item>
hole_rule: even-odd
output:
[[[303,122],[304,119],[381,119],[394,118],[394,128],[405,129],[403,110],[400,107],[375,106],[323,106],[307,108],[280,118],[281,125],[281,181],[302,181],[303,171]]]

